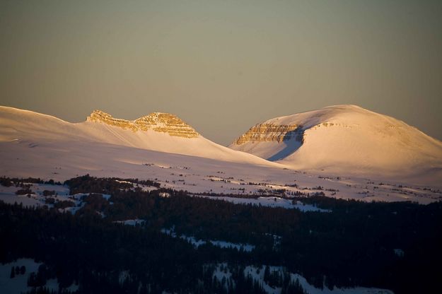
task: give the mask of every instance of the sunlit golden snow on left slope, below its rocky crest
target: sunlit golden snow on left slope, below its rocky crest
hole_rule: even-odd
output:
[[[25,141],[30,148],[37,148],[40,146],[40,143],[45,141],[99,142],[151,151],[214,158],[228,162],[278,166],[254,155],[233,151],[230,148],[209,141],[203,136],[188,139],[170,136],[169,134],[153,130],[132,131],[101,122],[72,124],[56,117],[18,110],[13,107],[0,106],[0,129],[1,142],[11,143],[11,140],[18,139],[13,142]]]

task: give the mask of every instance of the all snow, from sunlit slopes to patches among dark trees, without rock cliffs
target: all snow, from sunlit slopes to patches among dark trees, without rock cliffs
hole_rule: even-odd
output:
[[[72,124],[45,114],[0,107],[0,176],[59,182],[86,174],[137,178],[158,182],[159,189],[183,190],[194,197],[275,210],[298,209],[320,216],[327,215],[319,213],[331,211],[303,204],[298,198],[293,202],[293,197],[329,196],[419,204],[442,200],[442,143],[397,119],[340,105],[269,122],[302,124],[303,143],[245,143],[241,150],[253,155],[220,146],[203,136],[182,138],[153,130],[121,129],[101,122]],[[279,156],[277,162],[264,159],[274,155]],[[16,193],[21,187],[0,185],[0,201],[48,207],[66,201],[59,212],[76,213],[84,206],[83,196],[88,195],[69,195],[69,187],[64,185],[24,184],[31,192],[22,195]],[[132,186],[143,191],[158,189],[134,183]],[[47,191],[54,194],[47,195]],[[173,194],[160,190],[159,195],[167,198]],[[111,195],[103,197],[110,201]],[[104,213],[100,216],[106,218]],[[115,223],[147,225],[135,216],[127,218],[132,219]],[[257,251],[255,245],[178,235],[173,228],[165,228],[162,233],[185,240],[195,248],[211,244],[252,254],[253,250]],[[273,237],[275,251],[281,247],[281,236],[267,235]],[[393,251],[398,258],[408,254],[400,248]],[[10,278],[11,267],[22,265],[26,266],[25,274]],[[30,290],[26,281],[38,266],[33,259],[0,265],[0,293]],[[280,266],[269,269],[283,271]],[[281,288],[272,288],[264,281],[264,266],[247,266],[243,274],[260,283],[267,293],[281,293]],[[215,265],[214,278],[230,281],[231,276],[226,264]],[[120,283],[127,278],[129,271],[122,271]],[[290,278],[312,294],[392,293],[361,287],[320,289],[299,274],[290,273]],[[58,281],[48,281],[47,288],[57,291]],[[76,289],[77,285],[69,288]]]

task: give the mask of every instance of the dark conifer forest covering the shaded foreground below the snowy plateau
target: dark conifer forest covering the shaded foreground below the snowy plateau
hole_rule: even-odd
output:
[[[1,184],[8,181],[17,179],[2,178]],[[317,288],[442,293],[436,270],[442,264],[441,201],[424,206],[293,198],[331,211],[322,213],[231,204],[171,189],[146,192],[137,184],[159,185],[136,179],[86,175],[64,184],[71,194],[85,194],[74,214],[62,212],[62,204],[37,208],[0,202],[0,262],[23,257],[42,262],[28,281],[31,293],[49,292],[49,278],[58,279],[59,293],[68,293],[72,283],[78,284],[79,293],[265,293],[243,275],[247,266],[263,266],[266,283],[282,288],[282,293],[303,293],[284,274],[289,272]],[[144,223],[119,223],[129,219]],[[172,229],[196,240],[249,244],[253,249],[210,242],[195,247],[164,233]],[[397,254],[398,249],[403,254]],[[213,277],[219,264],[228,268],[234,283]],[[284,271],[274,274],[269,266]],[[119,281],[122,271],[130,276],[124,283]]]

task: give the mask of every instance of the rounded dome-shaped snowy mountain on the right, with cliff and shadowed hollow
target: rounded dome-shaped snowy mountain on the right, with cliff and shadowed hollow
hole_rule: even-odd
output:
[[[302,170],[403,175],[442,170],[441,141],[355,105],[269,119],[229,147]]]

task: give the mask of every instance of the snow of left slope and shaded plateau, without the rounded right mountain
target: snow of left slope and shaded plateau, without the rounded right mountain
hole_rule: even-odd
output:
[[[434,146],[440,143],[431,140]],[[305,146],[299,150],[302,148]],[[439,159],[434,159],[434,165]],[[323,194],[339,199],[421,204],[442,199],[442,178],[437,173],[414,176],[405,169],[403,174],[361,175],[351,169],[298,170],[233,151],[202,136],[187,139],[156,131],[134,132],[98,122],[71,124],[11,107],[0,107],[0,166],[0,176],[63,182],[88,173],[96,177],[155,180],[161,187],[205,195],[257,198]],[[0,196],[8,202],[18,199],[4,187]],[[21,196],[21,202],[36,203],[27,196]]]

